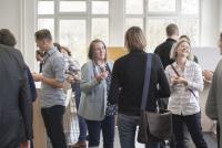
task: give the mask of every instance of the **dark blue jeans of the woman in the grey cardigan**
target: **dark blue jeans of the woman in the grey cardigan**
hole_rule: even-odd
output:
[[[103,148],[113,148],[114,145],[114,116],[105,116],[103,120],[87,120],[89,131],[89,147],[99,147],[100,131],[102,129]]]

